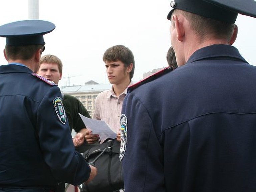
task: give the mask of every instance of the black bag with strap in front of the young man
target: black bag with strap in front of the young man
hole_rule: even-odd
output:
[[[91,182],[83,184],[82,192],[113,192],[124,188],[119,152],[120,142],[112,139],[83,153],[85,160],[95,166],[98,173]]]

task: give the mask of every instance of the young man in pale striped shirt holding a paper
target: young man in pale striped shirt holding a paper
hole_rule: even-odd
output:
[[[113,85],[110,90],[101,92],[95,100],[93,119],[103,120],[117,132],[120,141],[120,115],[127,87],[132,85],[135,61],[132,51],[124,45],[108,48],[103,55],[109,82]],[[86,135],[88,143],[100,140],[99,135]]]

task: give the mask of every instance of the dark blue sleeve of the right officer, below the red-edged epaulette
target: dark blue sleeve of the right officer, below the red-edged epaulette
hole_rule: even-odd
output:
[[[126,118],[126,120],[125,120]],[[164,192],[163,152],[156,137],[152,119],[139,99],[128,93],[124,99],[121,123],[126,122],[122,136],[124,185],[126,192]],[[125,125],[121,126],[125,130]],[[123,134],[123,133],[121,133]]]

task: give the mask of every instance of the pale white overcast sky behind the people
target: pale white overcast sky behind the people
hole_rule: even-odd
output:
[[[44,54],[54,54],[63,63],[59,86],[83,85],[89,80],[109,83],[102,56],[113,45],[129,47],[135,58],[133,81],[145,72],[167,66],[171,46],[166,16],[170,0],[39,0],[39,19],[53,22],[56,29],[44,36]],[[28,19],[28,0],[2,1],[0,25]],[[234,46],[256,65],[256,19],[238,15]],[[0,37],[0,49],[5,38]],[[3,52],[0,64],[6,64]]]

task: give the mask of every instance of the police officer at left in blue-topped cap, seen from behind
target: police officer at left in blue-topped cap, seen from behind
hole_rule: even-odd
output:
[[[75,151],[59,88],[35,73],[48,21],[0,26],[8,65],[0,66],[0,191],[53,191],[97,174]]]

